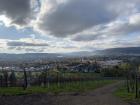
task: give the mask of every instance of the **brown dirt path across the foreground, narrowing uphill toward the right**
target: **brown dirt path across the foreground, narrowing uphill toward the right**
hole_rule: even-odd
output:
[[[82,94],[1,96],[0,105],[130,105],[112,95],[118,85],[115,83]]]

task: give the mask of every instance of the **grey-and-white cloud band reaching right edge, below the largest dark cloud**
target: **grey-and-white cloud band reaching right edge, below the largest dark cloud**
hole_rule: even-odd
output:
[[[135,18],[136,17],[136,18]],[[98,30],[93,29],[96,34],[79,34],[71,38],[74,41],[94,41],[108,39],[110,37],[122,37],[129,34],[140,33],[140,14],[135,14],[128,17],[126,21],[114,21],[112,25],[99,27]],[[118,43],[119,44],[119,43]]]

